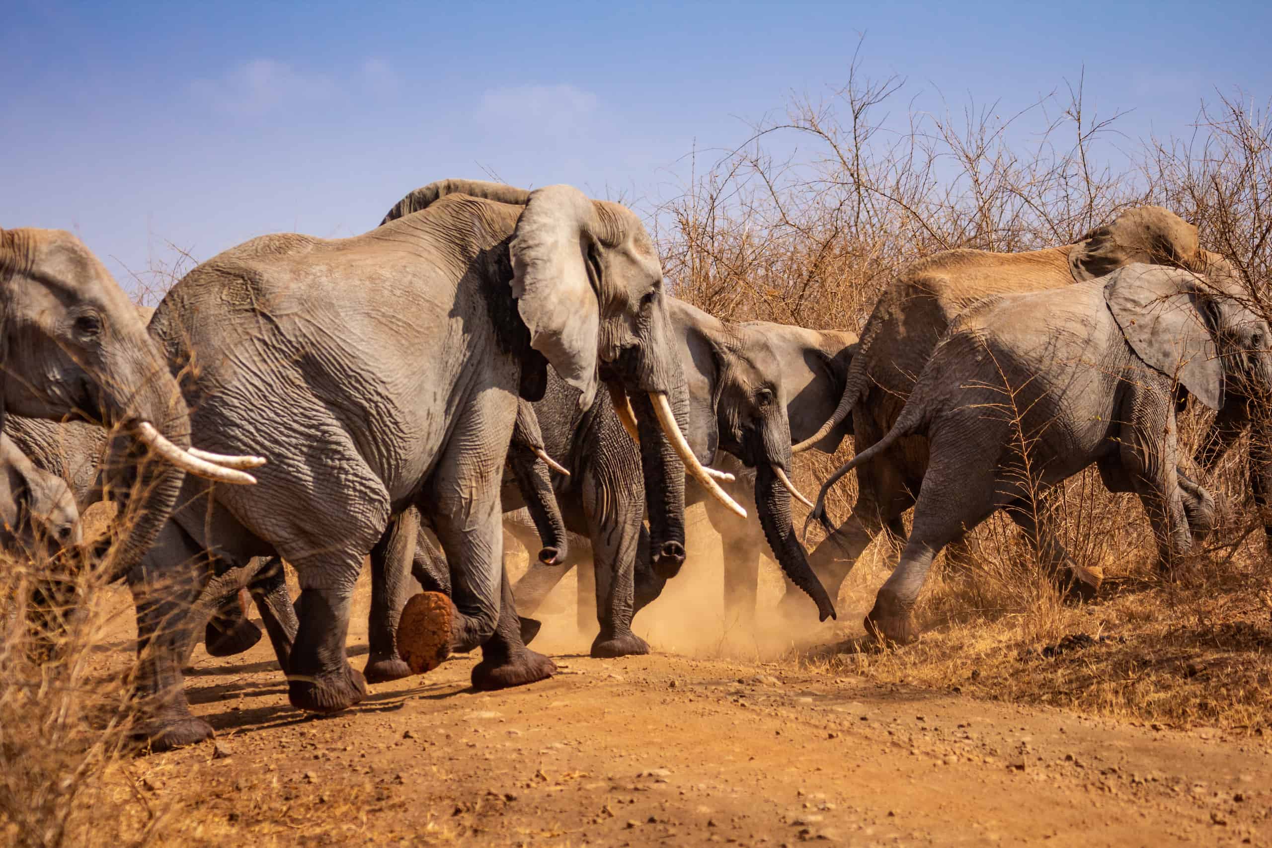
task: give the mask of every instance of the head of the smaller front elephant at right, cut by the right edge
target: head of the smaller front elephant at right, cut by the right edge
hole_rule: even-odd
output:
[[[1109,310],[1136,355],[1149,366],[1177,378],[1193,397],[1217,409],[1217,426],[1239,428],[1250,417],[1266,417],[1272,398],[1272,332],[1241,296],[1226,261],[1210,257],[1206,277],[1191,271],[1132,264],[1109,275],[1104,287]],[[1266,430],[1266,422],[1262,425]],[[1202,460],[1212,445],[1202,445]],[[1264,510],[1272,491],[1268,440],[1250,440],[1250,487]]]

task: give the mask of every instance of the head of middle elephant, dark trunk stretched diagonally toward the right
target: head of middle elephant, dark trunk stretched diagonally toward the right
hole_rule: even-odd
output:
[[[696,306],[668,299],[683,345],[689,386],[689,434],[709,462],[719,450],[756,469],[756,510],[782,571],[815,603],[824,622],[832,603],[813,573],[791,525],[791,434],[782,362],[761,328],[726,324]]]

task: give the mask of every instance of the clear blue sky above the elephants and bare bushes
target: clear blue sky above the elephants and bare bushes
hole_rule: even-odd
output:
[[[0,226],[70,229],[121,282],[263,233],[361,233],[445,177],[651,207],[686,154],[790,95],[899,74],[916,108],[1014,111],[1076,81],[1182,135],[1272,94],[1267,4],[375,4],[4,0]],[[899,102],[906,109],[907,103]]]

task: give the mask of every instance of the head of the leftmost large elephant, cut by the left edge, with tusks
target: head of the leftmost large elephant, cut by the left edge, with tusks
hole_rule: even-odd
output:
[[[0,230],[0,423],[5,411],[117,426],[135,440],[139,462],[148,453],[164,460],[140,474],[116,572],[154,542],[184,472],[252,483],[235,469],[265,462],[188,446],[186,403],[136,309],[97,257],[61,230]]]

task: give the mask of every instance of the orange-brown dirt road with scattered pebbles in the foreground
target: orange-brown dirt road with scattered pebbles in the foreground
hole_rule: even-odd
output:
[[[1262,737],[668,655],[490,694],[462,657],[312,718],[263,643],[237,660],[188,678],[216,742],[134,765],[195,844],[1272,842]]]

